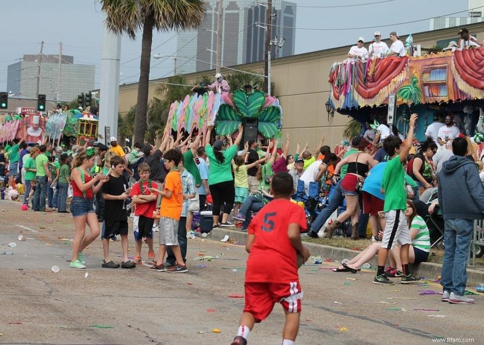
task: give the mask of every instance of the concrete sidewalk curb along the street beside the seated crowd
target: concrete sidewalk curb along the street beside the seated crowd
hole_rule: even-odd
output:
[[[232,229],[223,229],[223,228],[215,228],[213,229],[208,236],[207,239],[220,241],[224,238],[225,235],[229,235],[230,239],[235,240],[239,243],[245,243],[247,238],[247,233],[232,230]],[[309,252],[311,255],[314,256],[321,256],[324,259],[331,259],[335,262],[335,266],[337,266],[336,262],[340,262],[343,259],[351,259],[355,257],[359,251],[346,249],[346,248],[338,248],[332,247],[324,244],[314,244],[310,242],[303,241],[304,245],[309,248]],[[376,257],[369,261],[371,268],[377,267]],[[421,263],[418,265],[410,265],[412,269],[414,269],[420,276],[424,276],[426,279],[437,279],[438,276],[441,275],[442,272],[442,265],[434,264],[434,263]],[[474,268],[467,268],[467,285],[468,286],[478,286],[479,284],[484,282],[484,270],[474,269]],[[473,291],[474,292],[474,291]]]

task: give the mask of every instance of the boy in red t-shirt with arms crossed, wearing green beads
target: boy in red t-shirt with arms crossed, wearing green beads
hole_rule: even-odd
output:
[[[158,195],[150,192],[149,188],[158,188],[156,182],[152,182],[150,178],[150,166],[146,163],[141,163],[138,166],[138,174],[140,180],[133,186],[131,191],[132,203],[136,205],[133,219],[134,240],[136,241],[136,255],[134,263],[141,265],[141,244],[143,237],[146,238],[148,244],[148,259],[155,259],[155,251],[153,250],[153,212],[156,211],[156,201]]]

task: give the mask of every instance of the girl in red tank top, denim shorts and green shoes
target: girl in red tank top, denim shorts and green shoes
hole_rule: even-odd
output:
[[[45,149],[44,149],[45,151]],[[86,149],[76,154],[72,160],[71,185],[73,198],[71,214],[76,226],[76,235],[72,243],[72,268],[86,268],[82,250],[99,236],[99,223],[92,207],[92,198],[99,192],[109,176],[97,174],[92,177],[89,170],[94,165],[94,149]],[[94,187],[96,182],[99,183]],[[85,236],[86,224],[90,232]]]

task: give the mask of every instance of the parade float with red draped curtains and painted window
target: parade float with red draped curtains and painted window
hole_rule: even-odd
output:
[[[328,81],[330,105],[362,125],[370,119],[386,122],[389,95],[395,94],[394,124],[406,133],[409,115],[418,113],[419,140],[437,111],[450,111],[469,136],[484,129],[484,47],[365,62],[347,59],[331,66]]]

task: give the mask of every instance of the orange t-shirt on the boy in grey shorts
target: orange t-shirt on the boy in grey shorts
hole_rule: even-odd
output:
[[[171,191],[171,197],[162,197],[160,216],[179,221],[183,207],[183,186],[178,170],[172,170],[166,175],[164,192],[166,191]]]

